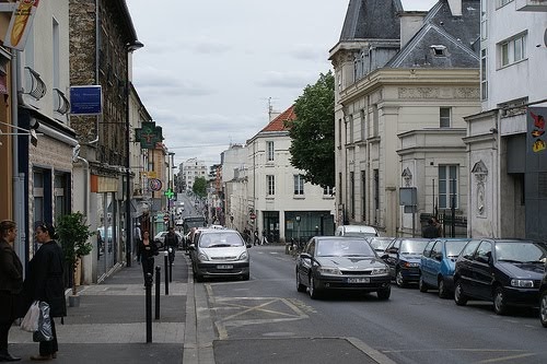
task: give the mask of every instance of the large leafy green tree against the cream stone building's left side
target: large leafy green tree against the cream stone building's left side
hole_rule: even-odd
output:
[[[321,74],[294,103],[296,118],[289,121],[291,164],[304,179],[322,187],[335,185],[335,78]]]

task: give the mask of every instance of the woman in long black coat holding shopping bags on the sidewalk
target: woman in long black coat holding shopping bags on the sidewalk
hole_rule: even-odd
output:
[[[65,298],[65,255],[55,240],[57,234],[51,224],[39,224],[36,227],[36,240],[40,245],[28,262],[27,274],[23,284],[25,308],[34,301],[43,301],[49,305],[53,340],[39,342],[39,354],[32,355],[33,361],[48,361],[57,357],[59,345],[55,330],[54,317],[67,316]]]

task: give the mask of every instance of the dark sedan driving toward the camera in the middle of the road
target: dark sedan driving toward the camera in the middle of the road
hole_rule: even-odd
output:
[[[318,298],[325,291],[376,292],[388,300],[388,267],[361,238],[315,236],[296,258],[296,290]]]

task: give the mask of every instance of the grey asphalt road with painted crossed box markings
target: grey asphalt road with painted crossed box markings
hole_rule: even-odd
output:
[[[268,351],[263,364],[278,362],[275,355],[287,362],[289,354],[299,356],[290,362],[300,363],[302,357],[306,363],[368,362],[356,348],[366,357],[379,354],[379,363],[547,363],[547,329],[536,310],[497,316],[488,303],[459,307],[435,291],[395,285],[386,302],[375,294],[314,301],[296,292],[294,258],[283,247],[249,251],[249,281],[196,283],[207,292],[217,364],[245,363],[245,351],[260,350]],[[277,344],[268,345],[274,340]],[[310,350],[314,354],[306,356]]]

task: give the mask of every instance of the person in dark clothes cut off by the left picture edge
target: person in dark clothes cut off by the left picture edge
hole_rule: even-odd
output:
[[[18,226],[11,220],[0,222],[0,362],[16,362],[21,357],[8,351],[8,333],[18,315],[23,290],[23,265],[13,250]]]

